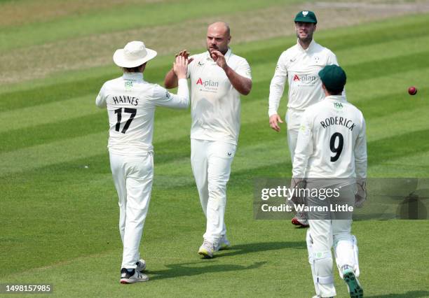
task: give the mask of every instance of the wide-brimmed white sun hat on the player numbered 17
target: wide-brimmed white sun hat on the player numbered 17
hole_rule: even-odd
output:
[[[142,41],[130,41],[125,48],[116,50],[114,62],[117,66],[132,68],[148,62],[156,54],[156,51],[146,48]]]

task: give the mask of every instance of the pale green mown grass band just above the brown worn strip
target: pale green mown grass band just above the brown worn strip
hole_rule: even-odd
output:
[[[287,3],[294,1],[288,0]],[[69,15],[58,20],[23,24],[22,26],[0,28],[0,50],[11,50],[27,45],[39,45],[59,38],[78,38],[90,34],[101,34],[140,27],[154,27],[161,24],[175,24],[201,16],[210,11],[210,16],[224,13],[244,12],[274,6],[285,1],[257,0],[232,1],[227,6],[222,0],[210,3],[198,0],[174,1],[172,3],[141,3],[119,6],[111,9]],[[186,6],[185,13],[177,13]],[[126,17],[121,17],[126,15]]]

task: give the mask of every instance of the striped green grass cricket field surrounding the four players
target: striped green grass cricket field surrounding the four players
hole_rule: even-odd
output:
[[[284,34],[264,32],[283,11],[292,17],[301,6],[275,0],[101,2],[0,1],[0,283],[50,283],[55,297],[314,295],[306,230],[289,221],[254,220],[252,213],[253,179],[290,177],[292,171],[285,127],[273,132],[267,116],[275,63],[295,43],[292,18]],[[371,10],[380,1],[367,2]],[[392,7],[397,2],[387,1]],[[329,8],[312,6],[326,16],[315,40],[335,52],[348,75],[348,100],[367,120],[369,176],[428,178],[429,14],[369,20],[367,8],[356,8],[356,24],[343,26],[343,14],[329,20]],[[272,20],[258,19],[271,13]],[[365,15],[360,22],[359,13]],[[253,15],[259,27],[242,15]],[[151,281],[120,285],[107,113],[95,107],[95,96],[105,80],[121,76],[111,55],[129,39],[158,45],[160,55],[144,77],[162,83],[174,52],[203,51],[206,25],[217,18],[231,23],[231,48],[250,62],[253,76],[252,92],[242,98],[228,188],[233,247],[212,260],[197,255],[205,218],[191,173],[190,113],[158,108],[154,188],[141,246]],[[414,97],[407,94],[410,85],[418,87]],[[354,222],[365,297],[429,297],[428,232],[427,220]],[[335,278],[338,297],[347,297]]]

